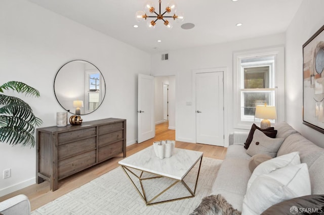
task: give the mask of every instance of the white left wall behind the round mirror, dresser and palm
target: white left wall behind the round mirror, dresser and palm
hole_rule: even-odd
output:
[[[55,74],[71,60],[86,60],[101,71],[107,90],[100,108],[84,121],[127,119],[127,142],[136,142],[137,74],[150,74],[148,53],[24,0],[1,1],[0,47],[0,84],[22,81],[39,90],[39,98],[21,98],[44,121],[42,127],[56,125],[56,112],[64,111],[53,91]],[[0,143],[0,196],[35,183],[35,150]],[[3,179],[9,168],[12,177]]]

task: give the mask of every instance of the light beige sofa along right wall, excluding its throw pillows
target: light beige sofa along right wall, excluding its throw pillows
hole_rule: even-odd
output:
[[[324,149],[304,138],[286,122],[278,123],[276,138],[284,138],[277,156],[299,151],[301,163],[306,163],[311,182],[311,194],[324,194]],[[210,195],[221,194],[233,208],[241,211],[251,177],[244,143],[249,132],[234,132],[229,138],[229,147],[213,184]]]

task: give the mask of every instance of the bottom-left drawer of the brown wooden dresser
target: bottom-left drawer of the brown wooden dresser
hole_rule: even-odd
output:
[[[96,164],[96,150],[79,154],[58,163],[59,180]]]

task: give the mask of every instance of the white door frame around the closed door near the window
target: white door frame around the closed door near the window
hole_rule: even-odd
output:
[[[224,78],[224,147],[228,147],[228,95],[229,90],[227,87],[229,84],[227,83],[227,67],[216,67],[216,68],[206,68],[206,69],[197,69],[192,70],[192,105],[196,107],[196,74],[197,73],[211,73],[211,72],[223,72],[223,78]],[[194,108],[195,114],[196,108]],[[233,121],[233,119],[230,119]],[[194,134],[194,140],[196,140],[196,133]]]

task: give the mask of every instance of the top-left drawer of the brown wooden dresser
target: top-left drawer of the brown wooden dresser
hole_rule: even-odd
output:
[[[96,135],[96,127],[59,133],[57,138],[58,138],[58,144],[60,145],[65,142],[82,139],[94,135]]]

